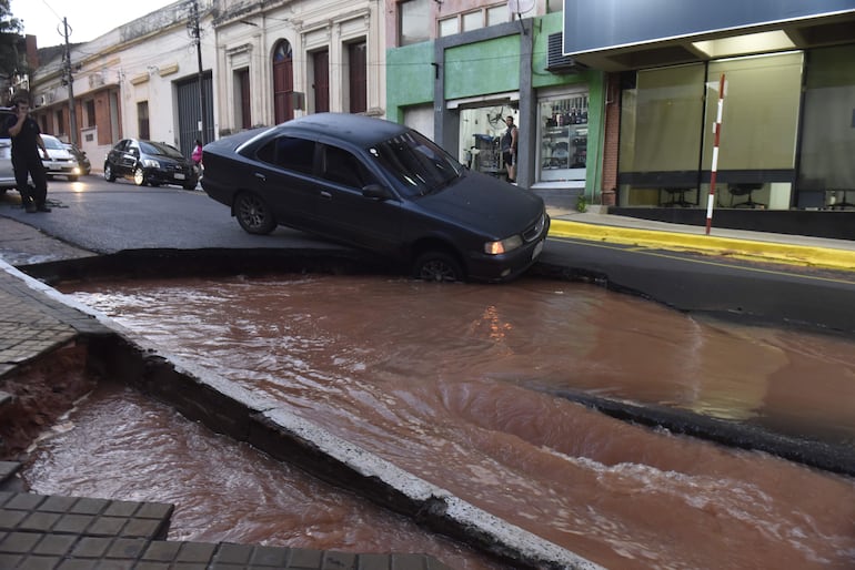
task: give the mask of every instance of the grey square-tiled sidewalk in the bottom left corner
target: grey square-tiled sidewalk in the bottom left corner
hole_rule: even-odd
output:
[[[451,570],[421,554],[170,542],[171,505],[0,492],[0,568]]]

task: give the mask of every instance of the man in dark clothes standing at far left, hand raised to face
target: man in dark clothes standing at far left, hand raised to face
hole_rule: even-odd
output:
[[[48,200],[48,176],[44,172],[42,155],[47,159],[48,149],[41,140],[41,130],[30,116],[30,98],[28,93],[17,93],[12,99],[16,116],[10,116],[6,126],[12,139],[12,167],[21,203],[28,213],[50,212],[46,204]],[[27,177],[32,179],[30,186]]]

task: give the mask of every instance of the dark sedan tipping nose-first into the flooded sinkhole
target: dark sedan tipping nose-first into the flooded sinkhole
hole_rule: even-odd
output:
[[[423,279],[511,279],[550,227],[540,196],[380,119],[306,115],[212,142],[203,162],[202,187],[247,232],[288,225],[404,262]]]

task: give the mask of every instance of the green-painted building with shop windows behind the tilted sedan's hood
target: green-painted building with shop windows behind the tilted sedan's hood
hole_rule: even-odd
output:
[[[406,0],[388,11],[392,120],[502,177],[513,116],[521,186],[571,206],[602,201],[606,74],[563,57],[560,2]]]

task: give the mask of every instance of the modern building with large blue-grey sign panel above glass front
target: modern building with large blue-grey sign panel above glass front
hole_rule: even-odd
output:
[[[563,18],[563,53],[613,83],[620,206],[855,206],[855,1],[566,0]]]

